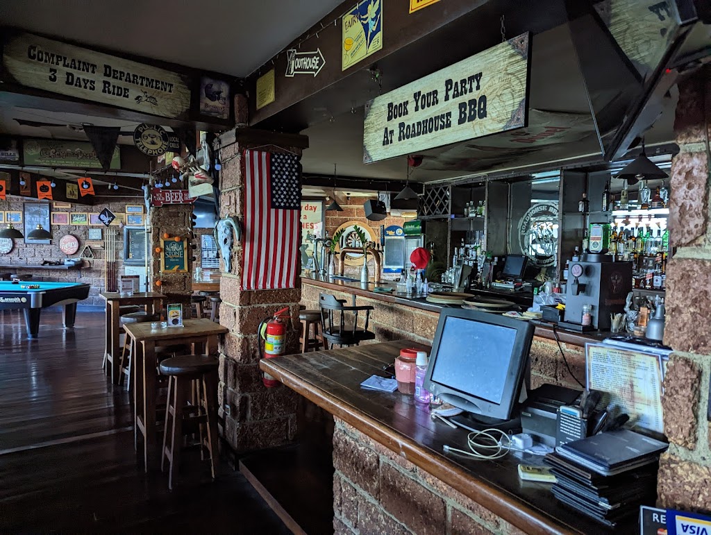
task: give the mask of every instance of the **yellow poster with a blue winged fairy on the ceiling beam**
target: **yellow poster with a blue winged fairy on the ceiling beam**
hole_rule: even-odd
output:
[[[383,48],[383,1],[363,0],[343,15],[341,70]]]

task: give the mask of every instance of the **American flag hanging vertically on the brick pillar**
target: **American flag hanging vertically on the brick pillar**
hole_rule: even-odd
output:
[[[245,151],[245,290],[296,286],[300,176],[296,156]]]

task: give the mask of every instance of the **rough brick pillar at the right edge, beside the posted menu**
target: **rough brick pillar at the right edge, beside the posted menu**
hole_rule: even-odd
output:
[[[674,353],[664,380],[670,448],[657,486],[662,507],[711,511],[711,68],[679,83],[674,124],[680,152],[671,168],[670,242],[664,342]]]

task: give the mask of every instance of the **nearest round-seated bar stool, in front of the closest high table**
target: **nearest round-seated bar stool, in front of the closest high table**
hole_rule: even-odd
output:
[[[215,479],[218,457],[218,360],[208,355],[185,355],[164,360],[159,369],[161,374],[169,376],[168,406],[161,450],[161,471],[165,471],[166,460],[169,462],[169,490],[173,490],[173,476],[176,475],[180,463],[183,434],[186,434],[184,429],[187,428],[187,433],[191,433],[190,427],[194,428],[196,424],[201,430],[201,452],[206,445],[210,453],[210,470]],[[188,404],[193,382],[198,382],[198,388],[195,389],[196,404]],[[207,426],[204,441],[203,426]]]

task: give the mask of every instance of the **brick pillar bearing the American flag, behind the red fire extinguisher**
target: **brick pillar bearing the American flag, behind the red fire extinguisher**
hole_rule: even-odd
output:
[[[269,136],[274,136],[270,141]],[[266,136],[266,138],[265,138]],[[278,138],[278,139],[277,139]],[[306,146],[304,136],[269,134],[237,128],[220,136],[220,217],[237,216],[242,220],[244,209],[245,149],[260,147],[278,152],[277,146],[301,154]],[[274,144],[275,146],[267,144]],[[298,244],[297,244],[298,247]],[[260,342],[257,329],[264,318],[285,306],[292,318],[298,318],[301,284],[284,290],[242,290],[242,244],[232,251],[232,266],[220,279],[220,323],[230,332],[220,346],[220,414],[225,424],[221,430],[226,441],[237,452],[269,448],[292,441],[296,433],[296,401],[294,391],[279,385],[266,388],[259,369]],[[287,353],[296,352],[298,319],[292,320],[287,331]]]

